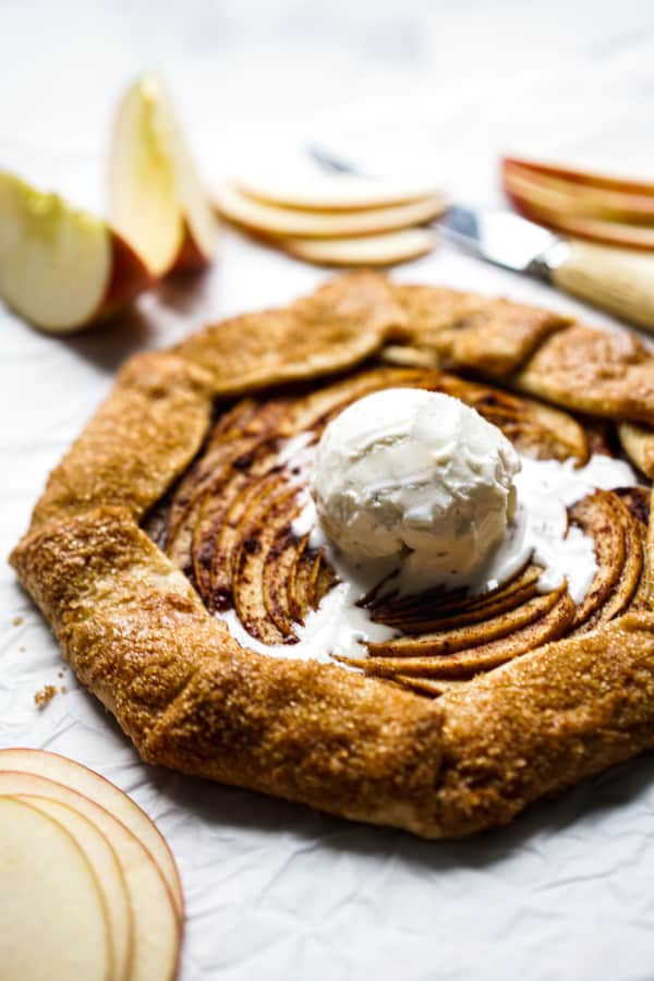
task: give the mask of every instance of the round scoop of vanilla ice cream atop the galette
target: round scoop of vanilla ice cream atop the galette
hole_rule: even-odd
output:
[[[474,574],[506,536],[520,460],[459,399],[390,388],[326,427],[311,493],[324,530],[355,562],[390,556],[434,580]]]

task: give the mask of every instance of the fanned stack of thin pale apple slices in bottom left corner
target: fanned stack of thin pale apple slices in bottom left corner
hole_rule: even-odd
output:
[[[2,981],[171,981],[183,897],[149,818],[56,753],[0,750]]]

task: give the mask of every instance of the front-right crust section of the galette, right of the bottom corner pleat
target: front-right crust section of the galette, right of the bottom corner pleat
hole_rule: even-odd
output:
[[[654,617],[541,647],[440,699],[443,833],[526,803],[654,744]]]

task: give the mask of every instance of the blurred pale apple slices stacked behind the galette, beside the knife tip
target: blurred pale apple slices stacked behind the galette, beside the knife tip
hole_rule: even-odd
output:
[[[431,252],[424,226],[445,208],[435,187],[353,174],[233,178],[216,191],[223,218],[298,258],[389,266]]]

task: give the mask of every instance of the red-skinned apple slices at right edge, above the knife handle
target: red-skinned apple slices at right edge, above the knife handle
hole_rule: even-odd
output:
[[[654,251],[654,182],[518,157],[502,160],[507,197],[525,218],[565,235]]]

